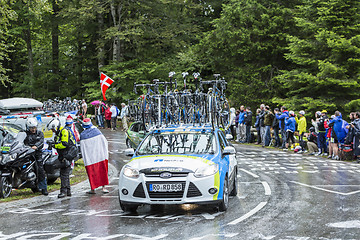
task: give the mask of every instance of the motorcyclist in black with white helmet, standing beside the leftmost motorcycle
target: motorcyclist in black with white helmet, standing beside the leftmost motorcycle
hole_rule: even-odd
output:
[[[26,120],[26,138],[24,144],[35,150],[35,168],[37,171],[38,188],[45,196],[48,195],[44,163],[42,162],[42,148],[44,146],[44,134],[37,130],[38,121],[35,118]]]

